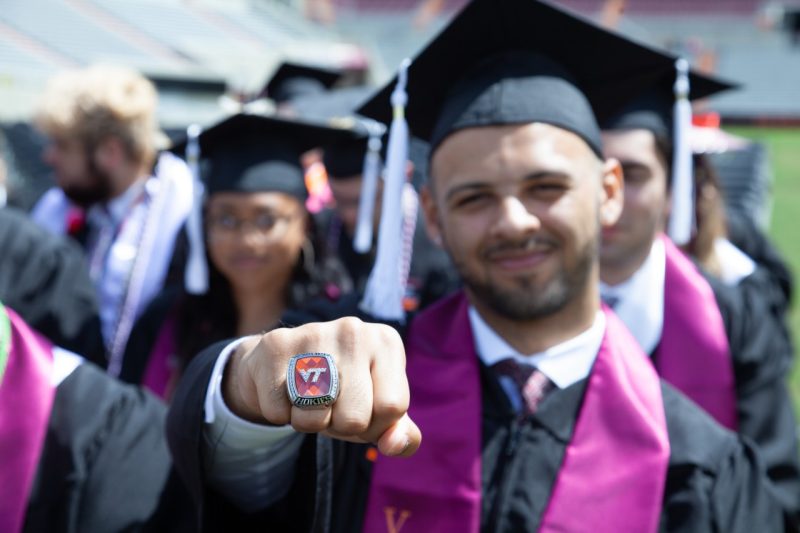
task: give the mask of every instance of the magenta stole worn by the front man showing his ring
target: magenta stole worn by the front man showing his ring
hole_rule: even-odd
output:
[[[422,430],[422,446],[411,458],[376,461],[368,533],[480,529],[480,367],[467,309],[458,293],[411,326],[410,415]],[[619,319],[607,310],[605,316],[541,531],[585,530],[587,520],[596,533],[658,528],[669,460],[659,378]]]

